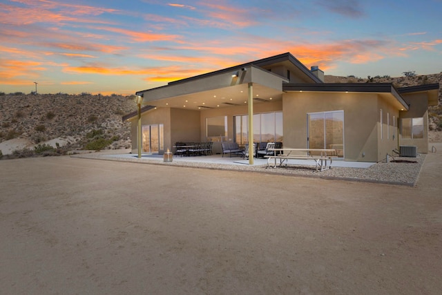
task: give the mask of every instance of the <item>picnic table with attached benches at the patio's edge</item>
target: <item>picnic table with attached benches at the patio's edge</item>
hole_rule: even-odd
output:
[[[284,163],[287,166],[288,160],[308,159],[316,162],[316,171],[323,171],[331,169],[333,158],[336,158],[335,149],[269,149],[269,151],[273,151],[273,155],[265,155],[267,168],[271,166],[272,159],[274,160],[273,168],[276,168],[277,160],[279,160],[279,166]],[[327,162],[329,162],[328,165]]]

